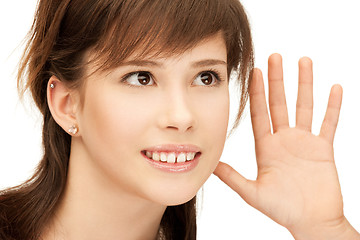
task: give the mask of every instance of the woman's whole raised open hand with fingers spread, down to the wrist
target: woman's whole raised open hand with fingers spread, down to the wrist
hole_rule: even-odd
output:
[[[341,86],[332,87],[320,133],[314,135],[311,132],[311,59],[304,57],[299,61],[293,128],[289,127],[281,56],[271,55],[268,64],[271,122],[259,69],[254,70],[250,87],[257,179],[248,180],[223,162],[214,174],[248,204],[286,227],[296,240],[360,239],[344,216],[334,161],[333,141],[342,101]]]

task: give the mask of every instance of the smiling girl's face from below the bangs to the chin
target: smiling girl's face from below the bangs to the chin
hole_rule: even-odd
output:
[[[91,181],[162,205],[193,198],[225,143],[226,60],[217,34],[181,55],[129,58],[90,75],[73,147]]]

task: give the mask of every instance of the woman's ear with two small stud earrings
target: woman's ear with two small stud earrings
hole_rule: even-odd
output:
[[[47,100],[56,123],[70,135],[79,136],[76,121],[79,101],[74,91],[71,91],[57,77],[52,76],[47,85]]]

